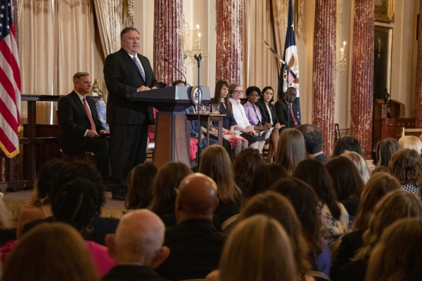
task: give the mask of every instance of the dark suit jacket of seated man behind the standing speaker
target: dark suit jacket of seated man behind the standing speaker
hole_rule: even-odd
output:
[[[98,118],[95,102],[89,96],[87,96],[87,104],[91,110],[96,131],[100,133],[101,130],[104,130],[103,124],[101,124]],[[84,134],[87,130],[91,130],[91,122],[89,122],[84,104],[75,91],[69,93],[68,96],[60,98],[57,115],[61,130],[61,146],[63,152],[69,154],[84,153],[88,140],[88,138],[84,137]]]

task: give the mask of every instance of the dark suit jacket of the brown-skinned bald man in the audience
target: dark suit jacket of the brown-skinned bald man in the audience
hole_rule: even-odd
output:
[[[164,244],[170,256],[157,273],[174,281],[205,278],[218,268],[226,237],[210,220],[184,221],[167,228]]]

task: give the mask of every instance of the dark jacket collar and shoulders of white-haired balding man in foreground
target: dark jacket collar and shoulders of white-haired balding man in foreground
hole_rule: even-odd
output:
[[[168,281],[158,276],[148,266],[120,265],[114,266],[101,279],[103,281]]]

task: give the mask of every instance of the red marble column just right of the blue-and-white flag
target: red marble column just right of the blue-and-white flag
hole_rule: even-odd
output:
[[[336,0],[316,0],[312,123],[322,131],[323,151],[334,149]]]

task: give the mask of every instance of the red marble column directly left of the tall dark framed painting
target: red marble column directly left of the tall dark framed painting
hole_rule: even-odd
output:
[[[354,1],[351,133],[371,159],[375,0]]]

